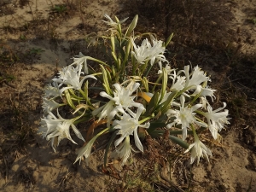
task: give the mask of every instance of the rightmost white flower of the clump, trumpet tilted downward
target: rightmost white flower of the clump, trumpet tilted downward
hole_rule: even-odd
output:
[[[212,137],[214,139],[218,138],[218,131],[221,131],[224,128],[225,124],[230,124],[227,116],[229,115],[229,110],[225,109],[224,112],[219,112],[226,107],[226,103],[224,102],[223,108],[218,108],[212,111],[212,107],[210,105],[207,106],[208,113],[202,113],[208,121],[209,130],[212,133]]]

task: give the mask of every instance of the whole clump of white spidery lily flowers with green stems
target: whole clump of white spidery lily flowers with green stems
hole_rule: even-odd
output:
[[[108,15],[105,17],[109,20],[105,22],[113,26],[112,32],[114,29],[119,30],[120,24],[127,20],[127,18],[121,21],[116,19],[114,22]],[[114,44],[124,45],[120,50],[122,54],[118,54],[118,51],[112,48],[114,64],[79,53],[73,58],[73,64],[62,68],[58,77],[52,79],[52,84],[48,84],[44,89],[44,118],[41,119],[39,132],[47,140],[51,139],[52,148],[56,150],[64,138],[75,143],[70,135],[70,127],[75,135],[84,141],[76,126],[79,122],[94,119],[91,129],[106,123],[106,129],[100,131],[79,149],[75,162],[82,160],[83,157],[88,162],[97,137],[112,133],[109,146],[115,137],[118,138],[114,141],[115,150],[110,157],[122,159],[124,165],[133,150],[130,136],[133,136],[136,147],[143,152],[143,143],[139,138],[138,130],[144,128],[143,133],[153,137],[156,129],[151,124],[161,118],[165,123],[162,129],[181,131],[182,139],[177,137],[179,141],[177,144],[185,143],[188,130],[193,132],[191,137],[194,137],[195,143],[187,144],[185,150],[185,152],[191,151],[191,164],[195,158],[199,161],[201,156],[206,156],[208,160],[208,155],[212,153],[205,144],[201,143],[198,130],[208,129],[213,139],[218,139],[219,132],[229,124],[229,111],[224,109],[226,103],[223,104],[224,107],[213,110],[210,102],[207,101],[208,98],[211,98],[211,102],[215,99],[216,90],[207,86],[211,79],[197,66],[191,70],[192,72],[189,66],[185,66],[182,70],[172,68],[166,61],[164,55],[166,47],[162,41],[151,38],[150,42],[148,38],[144,38],[141,46],[138,46],[135,42],[136,38],[127,37],[136,23],[135,18],[124,36],[120,37],[122,33],[119,30],[118,37],[112,38],[113,41],[117,41]],[[117,33],[112,33],[114,34]],[[98,62],[101,70],[89,72],[87,60]],[[150,61],[149,65],[148,61]],[[148,72],[144,73],[144,71],[146,68],[150,70],[155,63],[159,63],[159,71],[156,74],[158,80],[152,85],[148,83],[150,81],[147,77]],[[166,67],[163,67],[163,63]],[[124,74],[120,74],[121,72]],[[89,78],[95,79],[98,85],[90,87],[88,81],[84,82]],[[93,94],[90,94],[90,90]],[[102,91],[96,92],[97,90]],[[73,115],[77,113],[79,115],[73,119],[62,118],[59,112],[63,106],[71,108]],[[88,129],[88,132],[90,134],[92,131]],[[108,154],[108,148],[106,153]]]

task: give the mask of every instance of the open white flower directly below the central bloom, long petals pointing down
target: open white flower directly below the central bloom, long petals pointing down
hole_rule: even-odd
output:
[[[130,114],[124,113],[121,120],[113,121],[113,128],[119,129],[117,134],[121,135],[121,137],[119,137],[119,139],[114,142],[115,147],[118,146],[125,137],[128,137],[129,135],[134,135],[134,140],[137,148],[143,152],[143,144],[141,143],[137,135],[137,128],[148,128],[150,125],[150,123],[145,123],[141,125],[138,121],[139,117],[143,113],[143,110],[144,108],[137,108],[137,113],[133,113],[131,112],[131,110],[128,110]]]

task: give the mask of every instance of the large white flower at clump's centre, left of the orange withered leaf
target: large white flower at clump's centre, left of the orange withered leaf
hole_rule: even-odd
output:
[[[120,84],[113,84],[113,87],[115,88],[115,91],[113,91],[113,97],[102,91],[100,95],[108,98],[110,101],[101,108],[94,110],[92,114],[98,114],[99,120],[108,116],[109,126],[110,121],[117,113],[125,113],[125,110],[132,107],[144,108],[143,104],[133,101],[136,96],[131,96],[139,86],[140,84],[135,83],[134,81],[131,81],[131,83],[126,87],[120,86]]]

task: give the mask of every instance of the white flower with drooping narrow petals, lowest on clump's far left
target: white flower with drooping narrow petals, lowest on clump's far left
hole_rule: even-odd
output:
[[[57,115],[59,119],[57,119],[53,113],[49,112],[49,115],[46,119],[41,119],[41,126],[39,127],[38,131],[39,133],[43,134],[43,137],[46,137],[46,140],[49,140],[50,138],[52,139],[51,144],[54,150],[63,138],[67,138],[71,142],[75,143],[69,133],[70,126],[72,127],[76,136],[84,141],[84,137],[82,136],[80,131],[75,125],[73,125],[73,122],[79,119],[83,114],[73,119],[63,119],[57,110]],[[57,143],[55,143],[56,138]]]

